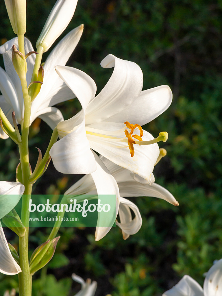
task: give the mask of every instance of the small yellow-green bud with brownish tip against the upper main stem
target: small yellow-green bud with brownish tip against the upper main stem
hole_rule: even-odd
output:
[[[15,45],[12,46],[12,63],[15,67],[15,71],[19,75],[20,79],[26,78],[27,63],[25,56],[17,50]]]

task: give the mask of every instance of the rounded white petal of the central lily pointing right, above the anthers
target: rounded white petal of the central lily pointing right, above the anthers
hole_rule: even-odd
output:
[[[144,125],[157,118],[170,106],[173,94],[168,85],[141,91],[135,101],[122,111],[107,118],[112,122],[132,122]]]

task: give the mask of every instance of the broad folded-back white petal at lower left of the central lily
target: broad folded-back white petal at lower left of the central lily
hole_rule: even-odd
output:
[[[54,167],[64,174],[89,174],[96,170],[93,153],[86,138],[85,121],[75,131],[57,141],[49,152]]]

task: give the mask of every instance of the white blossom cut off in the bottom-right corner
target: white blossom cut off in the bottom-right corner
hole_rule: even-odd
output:
[[[185,275],[163,296],[221,296],[222,295],[222,259],[218,260],[207,272],[202,287],[192,277]]]

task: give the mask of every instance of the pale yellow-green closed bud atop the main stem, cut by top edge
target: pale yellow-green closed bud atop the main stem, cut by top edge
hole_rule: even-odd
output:
[[[15,34],[26,32],[26,0],[5,0],[9,20]]]

